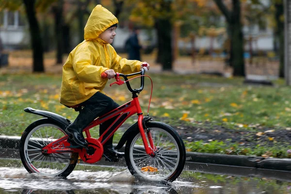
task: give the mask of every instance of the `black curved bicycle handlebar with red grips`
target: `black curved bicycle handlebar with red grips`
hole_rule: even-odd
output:
[[[147,64],[146,63],[143,63],[142,64],[143,67],[146,67]],[[147,69],[146,69],[147,70]],[[137,94],[137,93],[140,93],[143,89],[144,89],[144,85],[145,85],[145,77],[143,75],[145,75],[145,72],[146,72],[145,68],[142,68],[141,71],[137,72],[137,73],[132,73],[132,74],[128,74],[128,75],[124,75],[122,73],[116,73],[115,74],[115,82],[111,83],[110,86],[112,86],[114,83],[118,84],[118,85],[122,85],[124,83],[126,83],[129,91],[132,93],[132,94]],[[138,88],[138,89],[132,89],[131,86],[130,86],[130,83],[129,83],[129,79],[128,77],[130,76],[135,76],[135,75],[138,75],[138,74],[141,74],[141,87]],[[120,80],[119,77],[123,77],[125,81],[122,81]],[[105,72],[101,73],[101,78],[107,78],[107,74]]]

